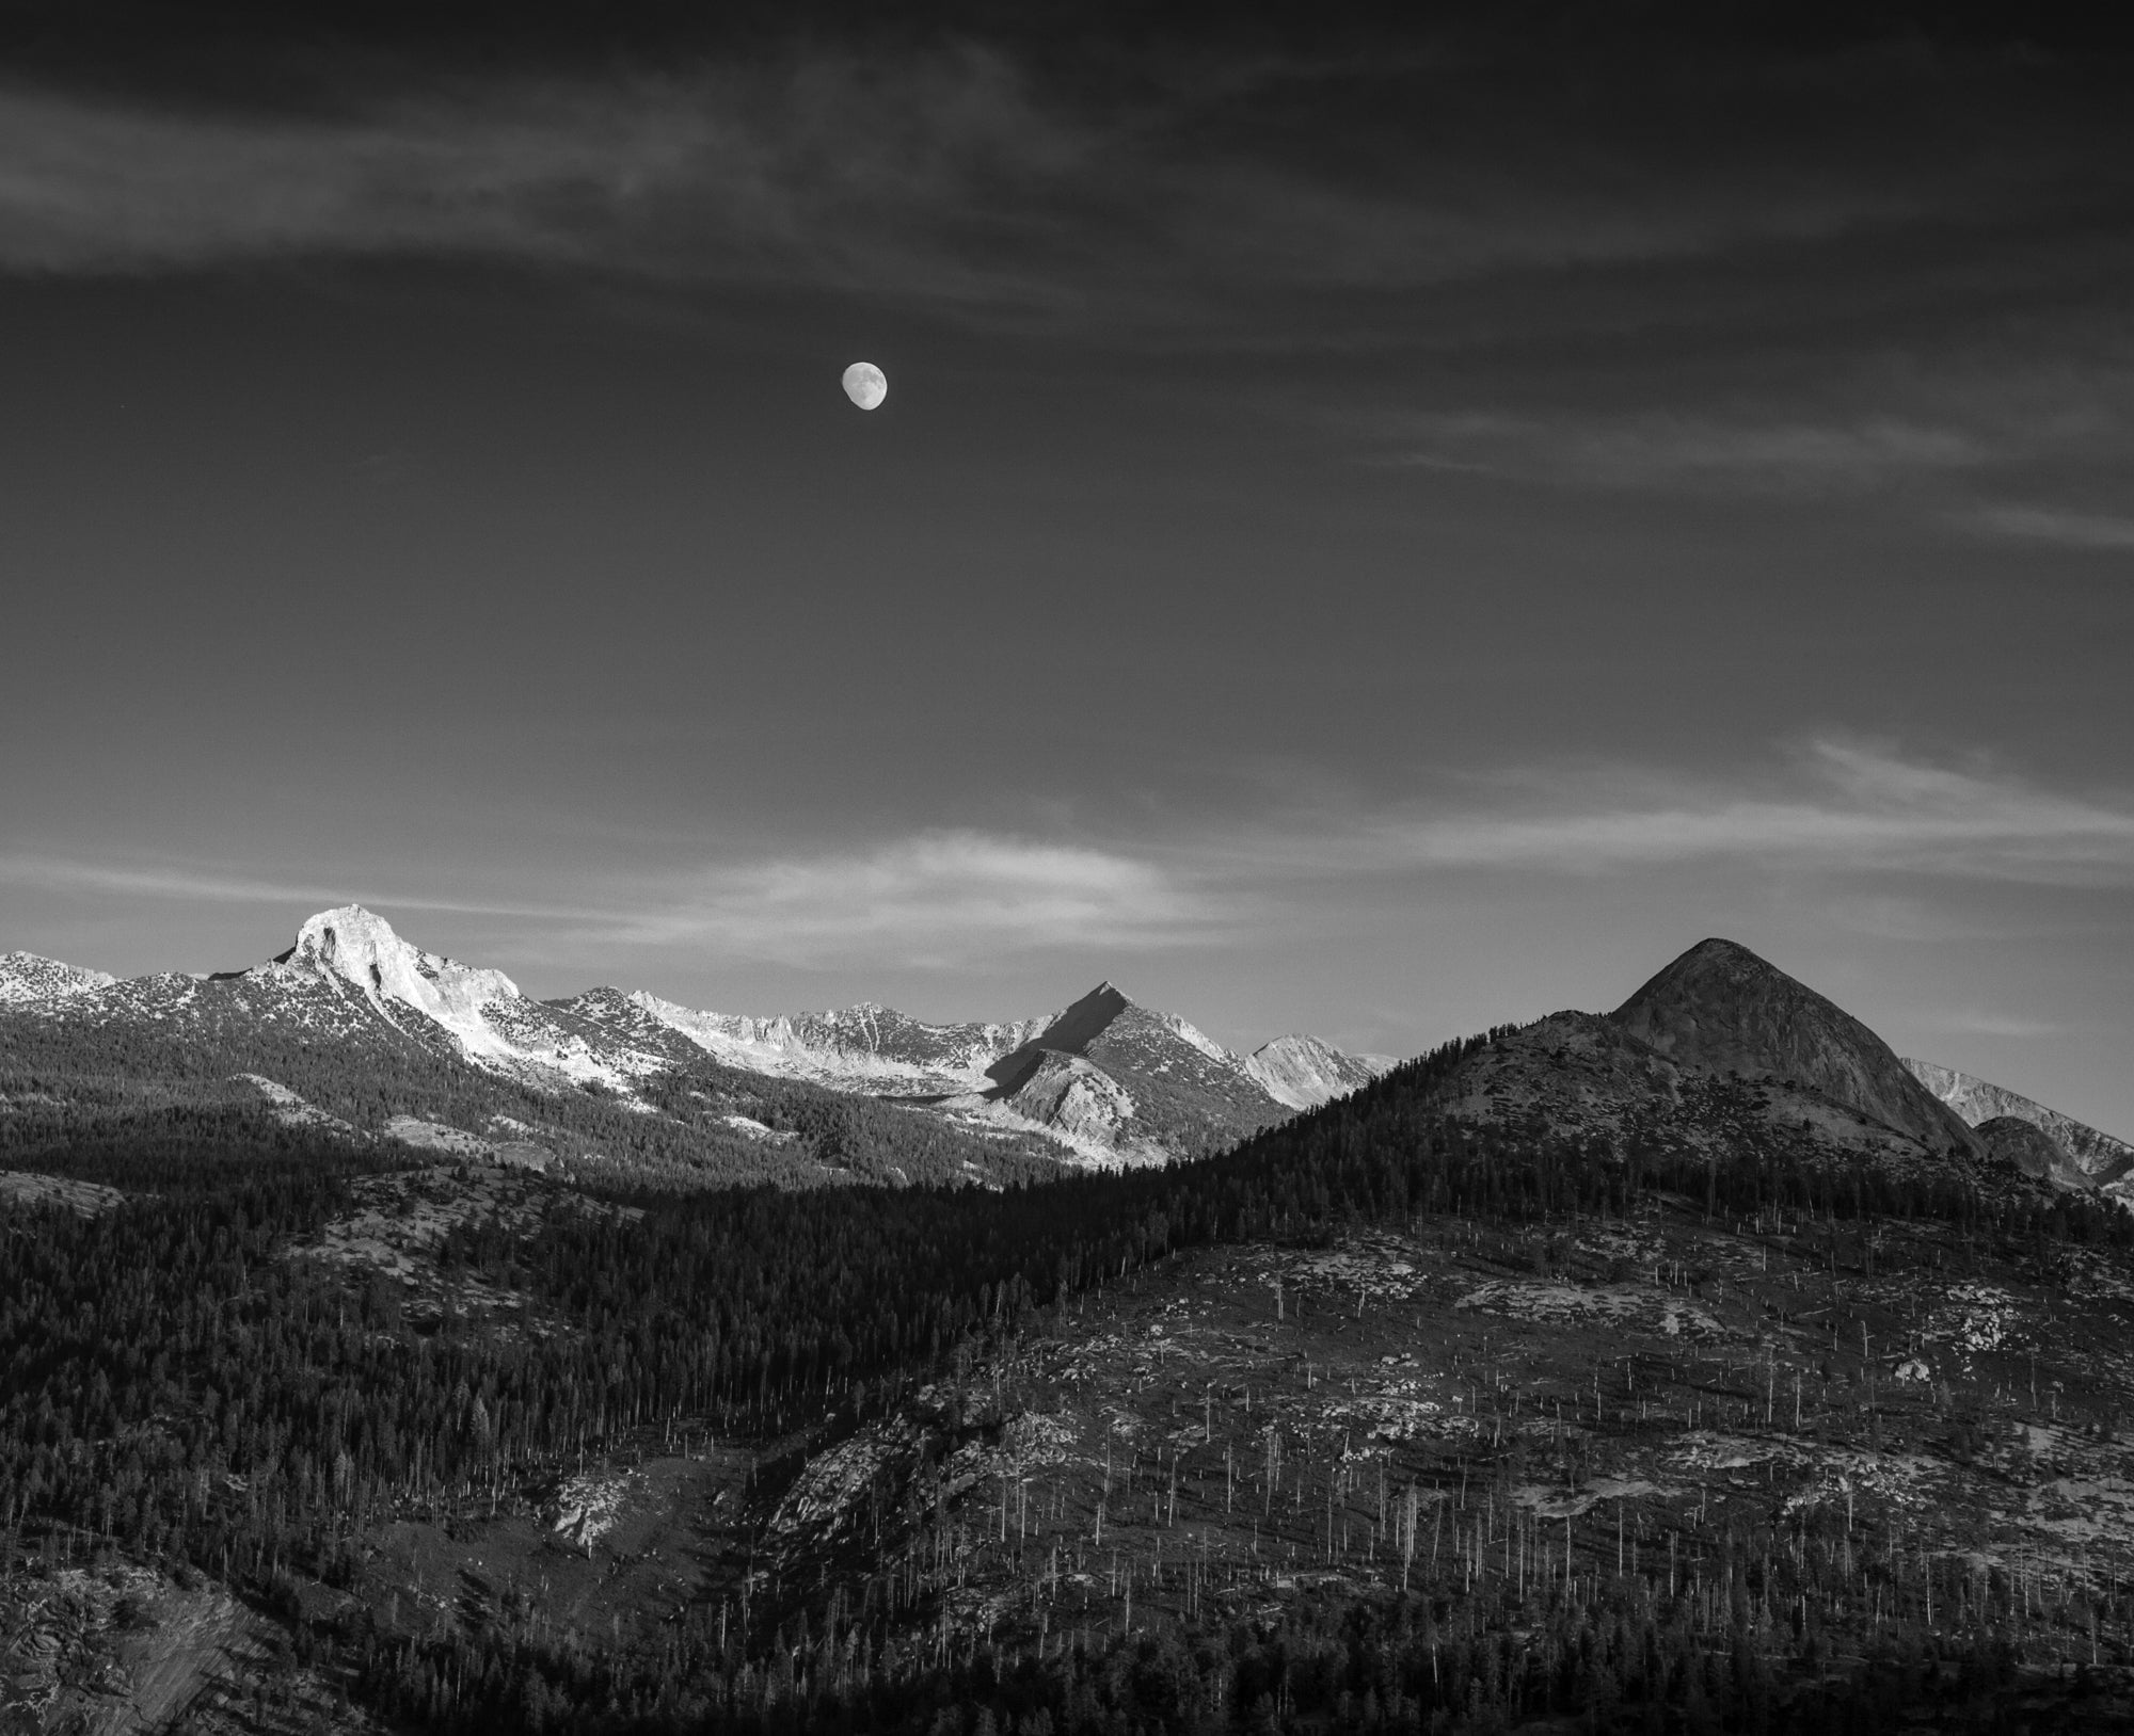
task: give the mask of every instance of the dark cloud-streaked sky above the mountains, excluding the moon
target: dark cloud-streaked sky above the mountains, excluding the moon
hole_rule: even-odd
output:
[[[1724,934],[2134,1137],[2123,43],[706,11],[9,11],[0,949],[1413,1054]]]

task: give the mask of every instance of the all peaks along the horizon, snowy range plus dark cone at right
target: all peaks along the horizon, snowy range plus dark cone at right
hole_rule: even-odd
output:
[[[248,970],[113,979],[6,953],[6,1028],[38,1030],[77,1058],[100,1054],[92,1071],[107,1075],[139,1071],[147,1049],[164,1056],[149,1071],[164,1073],[198,1075],[220,1058],[220,1081],[288,1126],[534,1167],[615,1162],[657,1143],[721,1179],[749,1164],[796,1179],[792,1164],[805,1160],[830,1177],[913,1179],[905,1162],[851,1162],[883,1143],[879,1128],[909,1126],[896,1115],[950,1137],[926,1171],[937,1177],[990,1179],[1033,1160],[1169,1162],[1394,1066],[1302,1034],[1238,1056],[1112,983],[1052,1015],[960,1024],[875,1002],[753,1017],[615,987],[536,1000],[501,970],[425,951],[354,904],[309,917],[294,945]],[[290,1062],[290,1047],[303,1060]],[[113,1060],[122,1054],[137,1060]],[[354,1058],[359,1071],[384,1066],[420,1086],[403,1083],[399,1098],[350,1092],[341,1073]],[[322,1090],[320,1077],[335,1083]],[[676,1090],[683,1079],[694,1083]],[[854,1098],[892,1113],[871,1122],[873,1141],[828,1115],[826,1105]],[[1720,938],[1690,947],[1613,1013],[1551,1013],[1494,1034],[1434,1086],[1434,1109],[1615,1143],[1997,1164],[2134,1199],[2128,1143],[1982,1079],[1901,1060],[1844,1009]]]

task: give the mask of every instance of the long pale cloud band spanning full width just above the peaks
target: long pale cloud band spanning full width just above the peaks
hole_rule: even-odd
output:
[[[1936,766],[1822,740],[1741,795],[1652,768],[1522,770],[1430,810],[1244,821],[1165,840],[1056,842],[935,830],[758,855],[572,896],[459,898],[380,889],[388,909],[510,919],[557,958],[687,947],[775,964],[958,970],[1033,951],[1251,945],[1270,926],[1381,923],[1370,883],[1522,872],[1901,874],[2032,887],[2134,885],[2134,795],[2064,793],[1993,768]],[[380,877],[384,879],[384,877]],[[0,883],[158,902],[337,904],[348,885],[262,881],[196,864],[0,857]],[[373,902],[367,894],[356,894]]]

